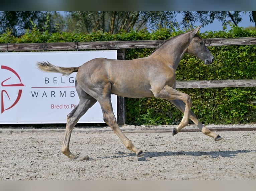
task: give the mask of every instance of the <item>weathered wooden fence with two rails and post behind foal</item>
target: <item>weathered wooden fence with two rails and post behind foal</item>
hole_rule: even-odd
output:
[[[164,40],[150,41],[107,41],[107,42],[69,42],[69,43],[20,43],[0,44],[1,52],[12,51],[71,51],[71,50],[117,50],[117,59],[125,60],[125,49],[157,48]],[[206,46],[256,45],[256,37],[204,39]],[[177,81],[176,88],[223,88],[256,87],[256,80],[204,80]],[[118,96],[117,121],[125,124],[125,99]]]

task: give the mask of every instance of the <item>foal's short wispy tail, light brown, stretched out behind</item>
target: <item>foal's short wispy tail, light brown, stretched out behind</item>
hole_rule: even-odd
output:
[[[53,64],[50,64],[49,62],[37,62],[37,67],[39,70],[44,71],[44,72],[58,72],[61,73],[62,76],[65,75],[70,75],[73,72],[77,72],[79,67],[60,67],[60,66],[55,66]]]

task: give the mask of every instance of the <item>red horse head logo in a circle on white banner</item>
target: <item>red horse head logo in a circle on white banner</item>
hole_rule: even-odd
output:
[[[20,81],[19,84],[7,84],[7,85],[6,85],[6,84],[4,84],[4,83],[5,83],[7,80],[10,79],[10,78],[7,78],[6,80],[4,80],[4,81],[1,83],[1,86],[2,86],[2,87],[24,86],[24,85],[21,83],[21,79],[20,79],[19,75],[18,75],[17,72],[14,71],[12,68],[10,68],[10,67],[8,67],[8,66],[1,66],[1,69],[9,70],[9,71],[12,72],[13,74],[15,74],[15,75],[17,76],[17,78],[19,79],[19,81]],[[10,97],[9,97],[9,95],[8,95],[8,93],[7,93],[7,91],[6,91],[6,90],[2,90],[2,91],[1,91],[1,113],[3,113],[4,111],[6,111],[6,110],[12,108],[14,105],[16,105],[16,104],[18,103],[18,101],[19,101],[19,99],[20,99],[20,97],[21,97],[22,90],[19,90],[18,96],[17,96],[16,100],[13,102],[13,104],[12,104],[10,107],[8,107],[8,108],[6,108],[6,109],[4,108],[4,99],[3,99],[3,94],[4,94],[4,93],[5,93],[5,94],[8,96],[8,98],[10,99]]]

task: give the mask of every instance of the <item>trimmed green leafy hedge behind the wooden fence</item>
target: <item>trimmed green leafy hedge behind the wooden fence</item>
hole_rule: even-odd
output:
[[[96,31],[92,34],[39,32],[36,28],[27,31],[22,37],[11,36],[10,31],[0,35],[0,43],[39,43],[39,42],[84,42],[84,41],[129,41],[166,40],[184,33],[181,30],[161,28],[157,31],[120,33],[110,35]],[[209,31],[201,33],[202,38],[256,37],[256,31],[233,26],[230,31]],[[226,80],[256,79],[256,45],[208,47],[215,61],[212,65],[191,55],[184,55],[177,71],[177,80]],[[127,49],[126,60],[146,57],[153,49]],[[256,122],[255,87],[246,88],[201,88],[179,89],[191,96],[192,110],[199,120],[210,124],[234,124]],[[170,102],[156,98],[126,98],[127,124],[178,124],[182,113]],[[191,121],[190,121],[191,123]]]

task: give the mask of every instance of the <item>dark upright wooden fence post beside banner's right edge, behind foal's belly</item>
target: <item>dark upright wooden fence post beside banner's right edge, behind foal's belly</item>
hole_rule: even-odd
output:
[[[125,49],[117,50],[117,59],[125,60]],[[125,124],[125,98],[117,96],[117,123],[118,125]]]

